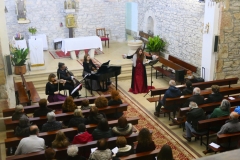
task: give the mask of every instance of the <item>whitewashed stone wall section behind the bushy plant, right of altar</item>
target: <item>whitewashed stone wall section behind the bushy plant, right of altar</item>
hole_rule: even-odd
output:
[[[204,3],[198,0],[134,1],[139,6],[139,30],[144,30],[148,15],[153,14],[154,35],[160,35],[167,41],[166,53],[200,68]]]

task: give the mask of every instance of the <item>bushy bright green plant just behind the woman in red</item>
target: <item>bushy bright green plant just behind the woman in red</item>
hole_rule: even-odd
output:
[[[159,55],[160,52],[165,51],[166,42],[159,36],[149,37],[146,51],[152,54]]]

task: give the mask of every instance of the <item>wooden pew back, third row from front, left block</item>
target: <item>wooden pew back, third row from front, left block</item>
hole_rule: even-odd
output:
[[[132,125],[138,124],[139,118],[137,117],[131,117],[127,118],[128,123],[131,123]],[[108,121],[109,127],[114,127],[117,126],[118,120],[112,120]],[[97,124],[89,124],[86,125],[86,129],[89,133],[92,133],[92,131],[97,127]],[[75,135],[77,135],[78,131],[77,128],[72,127],[72,128],[66,128],[66,129],[61,129],[62,132],[69,138],[73,139]],[[39,137],[43,138],[45,140],[45,144],[47,146],[51,146],[52,141],[55,139],[55,136],[58,131],[51,131],[51,132],[41,132],[39,133]],[[11,137],[13,136],[13,137]],[[19,144],[20,140],[24,137],[14,137],[13,132],[7,132],[7,139],[5,139],[5,147],[10,148],[10,147],[15,147]]]

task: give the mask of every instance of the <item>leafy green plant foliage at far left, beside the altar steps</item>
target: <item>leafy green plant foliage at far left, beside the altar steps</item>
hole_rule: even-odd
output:
[[[13,66],[23,66],[27,60],[29,49],[14,48],[11,51],[11,61]]]

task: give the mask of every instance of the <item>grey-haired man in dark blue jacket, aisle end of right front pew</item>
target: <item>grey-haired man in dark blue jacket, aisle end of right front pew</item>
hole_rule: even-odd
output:
[[[176,82],[174,80],[170,80],[168,90],[165,92],[162,100],[158,102],[158,105],[155,108],[155,112],[154,112],[155,116],[159,117],[160,109],[162,106],[164,106],[166,98],[175,98],[175,97],[181,96],[181,91],[175,86],[176,86]],[[171,110],[171,109],[175,109],[175,106],[164,106],[164,108]]]

